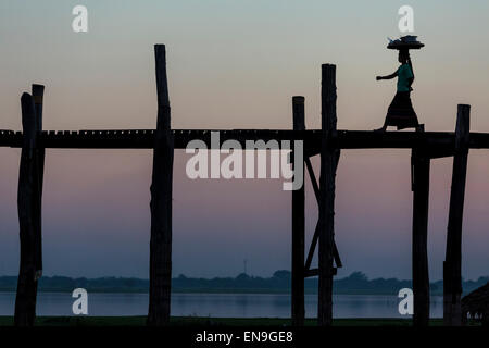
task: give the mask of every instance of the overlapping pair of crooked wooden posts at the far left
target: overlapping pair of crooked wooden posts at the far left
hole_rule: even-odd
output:
[[[37,282],[42,274],[41,192],[43,149],[37,148],[42,129],[43,86],[33,85],[33,96],[22,103],[23,146],[18,173],[18,226],[21,264],[15,298],[15,326],[33,326],[36,318]]]

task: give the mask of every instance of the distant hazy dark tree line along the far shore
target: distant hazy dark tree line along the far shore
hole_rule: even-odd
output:
[[[227,293],[227,294],[289,294],[290,271],[276,271],[271,277],[250,276],[241,273],[236,277],[193,278],[180,274],[172,279],[174,293]],[[464,281],[464,294],[487,284],[489,276],[477,281]],[[0,291],[15,291],[16,276],[0,276]],[[411,281],[398,278],[374,278],[362,272],[335,279],[334,293],[337,295],[397,295],[402,288],[411,288]],[[43,276],[38,290],[43,293],[71,293],[85,288],[88,293],[148,293],[149,279],[135,277],[72,278],[66,276]],[[317,293],[317,277],[306,278],[305,294]],[[431,295],[443,294],[443,281],[430,283]]]

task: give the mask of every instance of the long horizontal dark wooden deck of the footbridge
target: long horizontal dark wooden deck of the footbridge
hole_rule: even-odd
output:
[[[306,151],[318,153],[321,130],[281,129],[173,129],[175,149],[185,149],[190,140],[199,139],[211,147],[211,132],[220,133],[220,144],[237,140],[241,147],[246,140],[304,140]],[[39,136],[38,146],[51,149],[152,149],[154,129],[127,130],[46,130]],[[0,130],[0,147],[22,147],[22,132]],[[434,151],[452,151],[455,136],[452,132],[386,132],[338,130],[331,146],[340,149],[410,149],[417,146]],[[471,133],[469,148],[488,149],[488,133]]]

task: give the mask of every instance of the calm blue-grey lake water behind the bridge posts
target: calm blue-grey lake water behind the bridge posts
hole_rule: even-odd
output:
[[[288,318],[289,295],[267,294],[173,294],[172,315]],[[73,315],[71,294],[40,293],[38,315]],[[398,312],[399,298],[384,295],[334,296],[335,318],[406,318]],[[0,293],[0,315],[13,315],[14,293]],[[305,315],[315,316],[317,296],[305,296]],[[88,315],[146,315],[147,294],[89,294]],[[443,298],[431,298],[431,318],[442,318]]]

